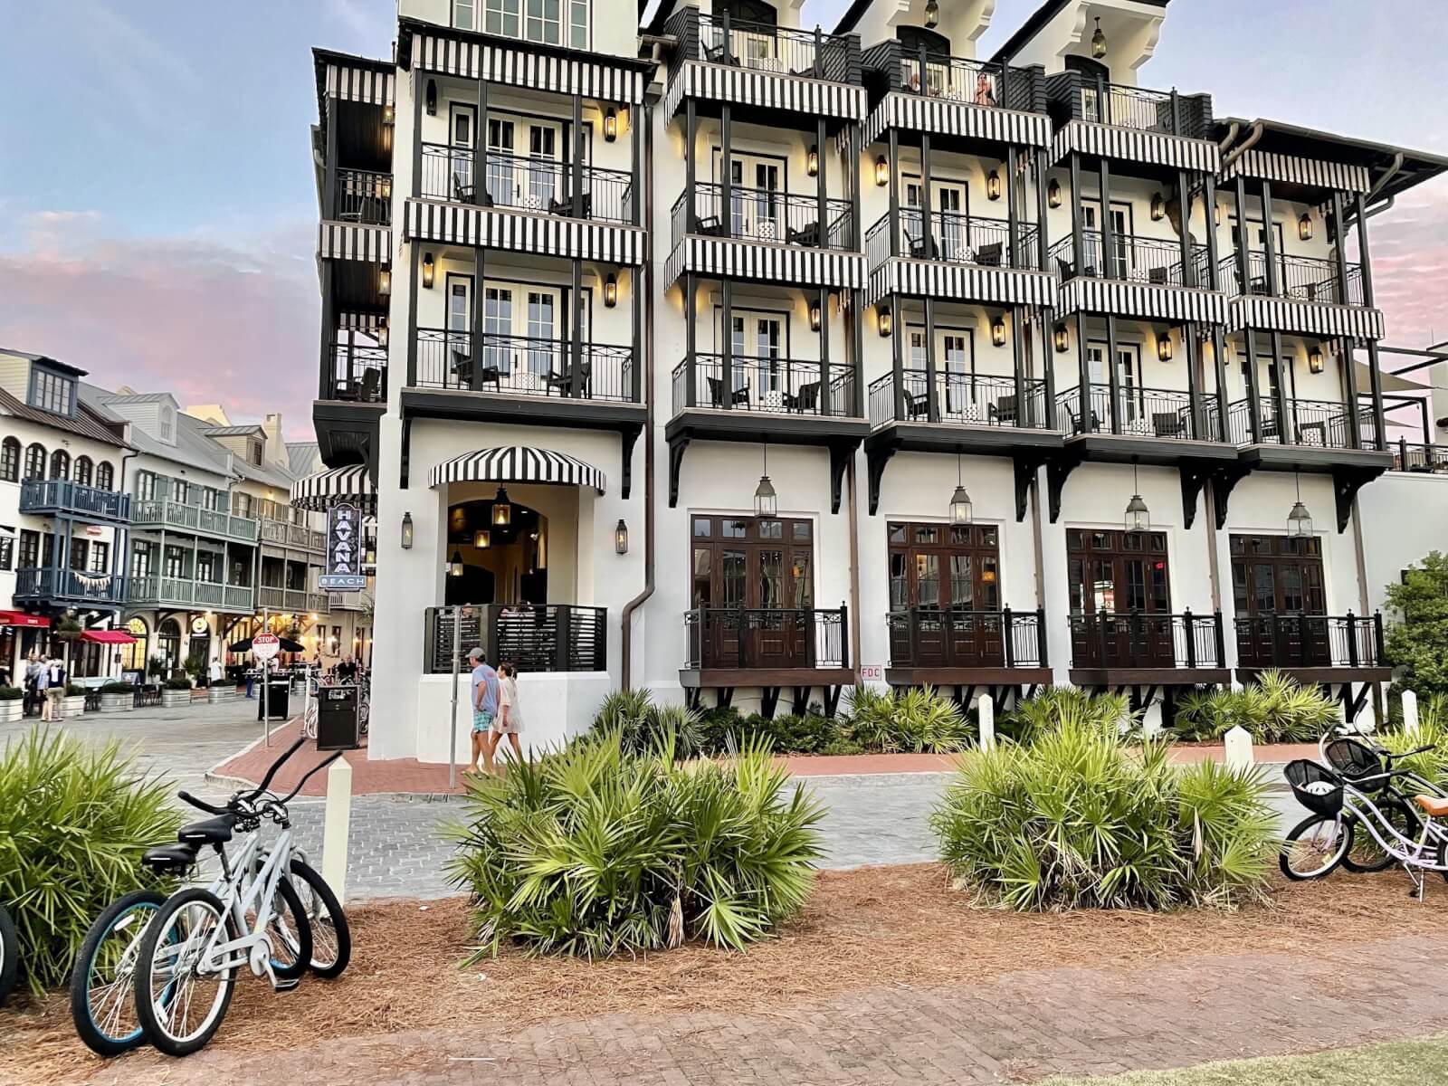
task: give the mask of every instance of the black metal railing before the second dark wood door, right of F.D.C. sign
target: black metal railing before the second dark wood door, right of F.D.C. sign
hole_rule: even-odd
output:
[[[1045,613],[912,607],[885,615],[892,668],[1048,668]]]

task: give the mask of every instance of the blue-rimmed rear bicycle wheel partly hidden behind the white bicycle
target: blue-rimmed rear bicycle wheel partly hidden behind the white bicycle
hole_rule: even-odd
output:
[[[146,1040],[136,1018],[135,975],[140,937],[165,904],[159,891],[113,901],[85,933],[71,970],[71,1019],[85,1047],[120,1056]]]

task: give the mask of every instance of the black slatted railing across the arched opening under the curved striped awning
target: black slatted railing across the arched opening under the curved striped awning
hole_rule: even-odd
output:
[[[453,608],[429,607],[423,644],[427,672],[446,673],[453,660]],[[608,608],[581,604],[478,604],[462,608],[459,659],[482,649],[488,663],[511,662],[520,672],[608,670]]]

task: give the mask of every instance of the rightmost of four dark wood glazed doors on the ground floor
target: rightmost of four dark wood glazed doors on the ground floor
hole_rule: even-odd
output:
[[[1322,540],[1232,536],[1232,599],[1242,668],[1331,663]]]

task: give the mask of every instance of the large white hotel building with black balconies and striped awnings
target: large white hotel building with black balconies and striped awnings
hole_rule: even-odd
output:
[[[1358,491],[1439,463],[1389,447],[1418,387],[1367,223],[1448,159],[1137,85],[1166,9],[1050,0],[986,59],[989,0],[828,33],[662,0],[637,35],[401,0],[395,64],[316,51],[295,492],[376,502],[374,756],[446,756],[462,604],[534,741],[620,685],[1157,718],[1280,666],[1360,712]]]

